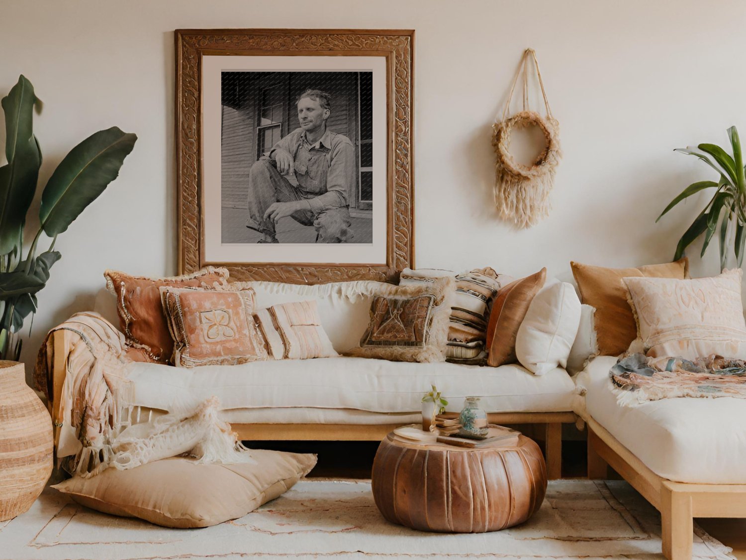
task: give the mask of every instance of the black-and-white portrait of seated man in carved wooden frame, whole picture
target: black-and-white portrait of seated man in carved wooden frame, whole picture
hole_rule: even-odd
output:
[[[180,269],[316,282],[410,266],[411,32],[225,34],[177,31]]]

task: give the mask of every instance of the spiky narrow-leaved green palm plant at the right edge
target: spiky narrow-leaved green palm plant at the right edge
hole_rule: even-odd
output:
[[[698,181],[690,184],[665,207],[665,210],[656,220],[656,222],[660,220],[671,208],[674,208],[689,196],[700,192],[700,190],[715,189],[712,199],[709,199],[709,202],[692,222],[692,225],[689,225],[689,228],[681,236],[676,246],[674,261],[683,257],[685,249],[701,234],[704,234],[704,241],[700,256],[704,256],[715,231],[718,231],[720,269],[725,268],[731,243],[733,243],[733,252],[736,255],[739,267],[742,265],[744,244],[746,243],[746,178],[741,141],[735,126],[728,128],[728,138],[730,139],[731,149],[733,149],[733,155],[728,154],[715,144],[700,144],[696,147],[688,146],[674,150],[674,152],[700,158],[720,175],[717,182]]]

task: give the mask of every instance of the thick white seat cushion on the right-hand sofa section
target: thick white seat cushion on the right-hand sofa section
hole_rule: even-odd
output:
[[[746,483],[746,400],[676,398],[621,406],[609,382],[615,363],[598,356],[578,374],[577,385],[586,390],[581,416],[592,417],[665,479]]]

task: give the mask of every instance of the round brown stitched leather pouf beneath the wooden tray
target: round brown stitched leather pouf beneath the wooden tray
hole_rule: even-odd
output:
[[[416,444],[393,433],[381,441],[372,473],[383,517],[421,531],[488,532],[523,523],[542,505],[547,468],[524,435],[511,447]]]

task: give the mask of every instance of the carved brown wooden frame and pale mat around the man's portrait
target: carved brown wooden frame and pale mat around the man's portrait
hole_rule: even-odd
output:
[[[413,40],[414,31],[412,30],[180,29],[175,31],[175,144],[180,273],[191,273],[201,267],[213,265],[227,267],[231,271],[231,278],[236,280],[318,284],[358,279],[394,281],[401,270],[413,267]],[[379,134],[378,138],[385,135],[386,141],[381,142],[379,148],[376,148],[377,153],[385,154],[385,158],[377,158],[377,161],[385,160],[385,165],[377,168],[382,170],[377,173],[376,177],[381,187],[378,190],[374,190],[375,187],[373,187],[366,192],[378,193],[379,190],[385,189],[385,196],[383,193],[379,193],[380,196],[376,194],[378,198],[373,198],[370,203],[374,221],[372,241],[368,245],[361,243],[351,246],[342,243],[336,246],[327,244],[322,247],[285,243],[286,247],[275,246],[278,250],[277,254],[280,255],[317,255],[313,260],[295,258],[292,262],[286,262],[284,258],[276,261],[267,258],[270,254],[267,251],[272,249],[272,246],[224,243],[225,227],[227,227],[225,224],[228,223],[228,219],[225,218],[225,211],[220,214],[216,208],[226,207],[227,195],[221,193],[229,191],[225,186],[221,187],[221,184],[225,185],[225,179],[222,179],[225,175],[221,175],[220,165],[215,162],[221,161],[220,146],[225,144],[225,140],[221,138],[225,137],[216,136],[215,131],[221,130],[222,122],[225,121],[226,102],[225,94],[221,93],[225,87],[216,87],[215,84],[225,84],[225,72],[228,71],[244,72],[246,68],[254,69],[256,66],[275,72],[278,60],[280,66],[286,67],[288,64],[293,64],[300,69],[310,71],[319,71],[317,68],[319,60],[322,61],[321,66],[325,68],[328,62],[334,68],[339,66],[357,69],[357,66],[360,66],[360,69],[366,69],[371,63],[372,66],[380,69],[377,74],[372,73],[378,78],[371,79],[377,80],[376,91],[381,93],[378,98],[372,97],[377,99],[375,103],[378,103],[378,107],[385,108],[385,119],[380,118],[377,121],[377,130],[385,131],[385,134]],[[285,73],[291,74],[292,72]],[[238,91],[237,87],[236,91]],[[278,107],[278,111],[280,108],[284,111],[286,122],[288,112],[296,111],[293,102],[275,105],[275,107]],[[216,111],[219,112],[216,113]],[[260,111],[265,111],[265,109],[262,108]],[[372,111],[372,114],[380,117],[380,113],[383,112],[382,109],[377,112]],[[272,117],[264,119],[264,116],[265,113],[260,113],[261,122],[274,122]],[[257,120],[258,122],[260,121]],[[284,137],[288,134],[288,125],[284,124],[281,128]],[[256,140],[254,140],[252,158],[256,157],[257,152],[262,153],[260,148],[257,148],[260,143],[259,133],[263,133],[262,138],[269,134],[264,128],[255,126],[253,130]],[[280,125],[278,124],[278,133],[279,131]],[[355,149],[360,149],[359,143],[355,143]],[[267,159],[267,153],[263,152],[262,159]],[[358,163],[360,164],[360,160]],[[363,167],[357,167],[357,169],[360,170]],[[244,180],[246,176],[248,174],[242,175],[237,181]],[[385,182],[382,181],[383,176],[385,176]],[[243,187],[242,184],[239,183],[239,187]],[[220,202],[221,200],[223,202]],[[378,204],[379,202],[383,204]],[[380,208],[385,208],[385,220]],[[376,211],[380,214],[375,214]],[[231,212],[231,216],[236,216],[236,212],[241,211]],[[224,216],[222,222],[221,216]],[[222,229],[220,223],[224,224]],[[242,228],[242,224],[236,225],[232,231],[240,230],[242,234],[245,234]],[[307,229],[313,233],[313,229]],[[223,233],[215,234],[215,231]],[[377,232],[383,235],[377,237]],[[319,242],[319,234],[316,234],[316,242]],[[257,241],[251,243],[257,243]],[[304,243],[313,243],[313,241],[304,241]],[[226,247],[228,249],[225,249]],[[289,252],[280,252],[280,249],[284,250],[287,247],[289,247]],[[357,252],[356,247],[360,249],[360,252]],[[233,256],[222,258],[228,255],[229,249],[233,251],[230,255],[248,255],[248,258],[236,259]],[[254,255],[264,256],[254,261]],[[322,256],[319,257],[319,255]],[[363,259],[366,259],[368,255],[374,255],[375,258],[365,261],[360,261],[360,258],[357,260],[329,258],[330,262],[319,262],[319,258],[323,258],[324,255],[330,255],[330,257],[361,255],[360,258]],[[332,260],[336,262],[331,262]]]

